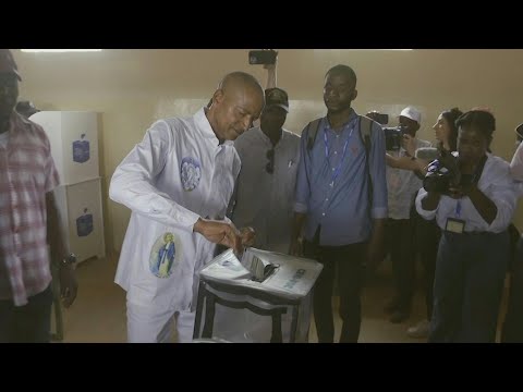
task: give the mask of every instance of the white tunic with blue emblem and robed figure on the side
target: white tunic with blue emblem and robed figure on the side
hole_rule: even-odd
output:
[[[197,273],[216,245],[193,225],[199,217],[224,219],[239,171],[232,143],[219,145],[204,109],[151,125],[109,188],[112,200],[132,210],[114,280],[127,301],[194,310]]]

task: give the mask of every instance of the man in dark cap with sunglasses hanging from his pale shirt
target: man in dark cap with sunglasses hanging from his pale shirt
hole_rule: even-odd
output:
[[[231,219],[256,230],[254,246],[288,253],[292,203],[300,160],[300,136],[283,128],[289,97],[278,87],[265,91],[260,126],[234,142],[242,161],[231,200]]]

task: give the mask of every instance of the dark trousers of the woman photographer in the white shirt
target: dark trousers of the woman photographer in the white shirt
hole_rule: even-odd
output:
[[[508,261],[507,232],[442,233],[429,342],[495,342]]]

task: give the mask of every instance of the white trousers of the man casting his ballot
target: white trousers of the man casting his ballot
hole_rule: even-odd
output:
[[[195,316],[194,311],[166,310],[127,301],[127,342],[191,343]]]

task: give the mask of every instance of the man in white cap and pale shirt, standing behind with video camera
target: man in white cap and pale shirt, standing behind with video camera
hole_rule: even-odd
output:
[[[416,149],[430,147],[430,142],[416,138],[421,122],[422,113],[417,109],[413,107],[403,109],[399,118],[404,133],[402,147],[388,154],[396,157],[414,157]],[[411,220],[411,208],[414,205],[414,195],[421,187],[422,180],[413,171],[394,169],[387,164],[389,219],[386,248],[392,261],[396,293],[385,310],[391,314],[391,322],[402,322],[411,314],[415,283],[414,220]]]

